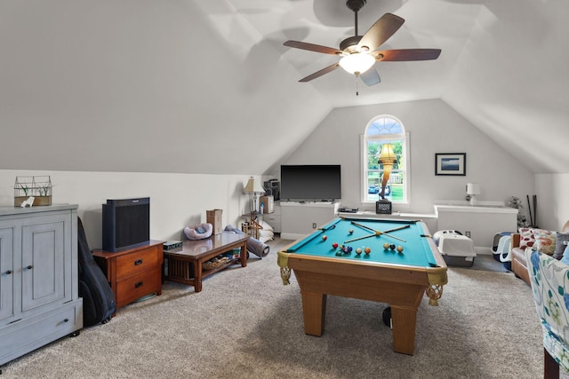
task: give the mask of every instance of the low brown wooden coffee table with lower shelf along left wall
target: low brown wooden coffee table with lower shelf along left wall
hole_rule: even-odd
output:
[[[247,265],[247,240],[250,238],[247,234],[223,232],[204,240],[184,241],[179,249],[164,250],[164,280],[189,284],[200,292],[204,278],[229,265],[239,262],[243,267]],[[241,249],[239,259],[230,259],[219,267],[204,271],[204,262],[237,248]]]

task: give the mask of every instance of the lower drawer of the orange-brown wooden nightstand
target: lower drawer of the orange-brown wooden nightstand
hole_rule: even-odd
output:
[[[155,292],[160,292],[161,267],[154,266],[152,270],[140,272],[124,280],[116,281],[116,308],[122,308],[134,300]]]

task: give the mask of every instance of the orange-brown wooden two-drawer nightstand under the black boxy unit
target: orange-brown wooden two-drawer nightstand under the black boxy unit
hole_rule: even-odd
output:
[[[144,246],[115,253],[92,252],[113,289],[116,310],[143,296],[162,295],[163,244],[148,241]]]

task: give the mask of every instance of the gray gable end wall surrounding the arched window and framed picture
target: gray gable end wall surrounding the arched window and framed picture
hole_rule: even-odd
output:
[[[468,182],[480,184],[480,201],[535,193],[533,173],[524,164],[440,99],[333,109],[284,164],[341,164],[342,204],[373,209],[361,202],[360,136],[380,114],[396,116],[410,135],[410,204],[394,205],[396,210],[431,213],[433,201],[464,200]],[[435,176],[436,153],[466,153],[466,177]]]

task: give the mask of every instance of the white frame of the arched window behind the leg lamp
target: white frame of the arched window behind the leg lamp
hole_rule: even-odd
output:
[[[397,122],[400,127],[401,127],[401,132],[400,133],[391,133],[391,134],[379,134],[379,135],[375,135],[375,136],[368,136],[367,131],[369,130],[369,128],[373,125],[373,122],[376,122],[377,120],[381,119],[381,118],[388,118],[388,119],[392,119],[393,121]],[[409,172],[411,170],[411,164],[410,164],[410,160],[409,160],[409,156],[410,156],[410,148],[409,148],[409,132],[405,131],[405,126],[403,124],[403,122],[401,122],[397,117],[391,115],[391,114],[381,114],[378,116],[373,117],[372,120],[370,120],[370,122],[367,123],[367,125],[365,126],[365,134],[360,136],[360,164],[361,164],[361,170],[360,170],[360,186],[361,186],[361,191],[360,191],[360,201],[362,202],[362,204],[374,204],[375,200],[370,200],[368,197],[368,175],[370,170],[368,169],[368,161],[367,161],[367,157],[368,157],[368,142],[370,141],[401,141],[401,147],[402,147],[402,152],[401,155],[403,157],[402,160],[399,160],[399,167],[397,168],[396,172],[401,172],[403,173],[403,199],[400,201],[394,201],[389,199],[390,201],[392,201],[394,204],[401,204],[401,205],[408,205],[409,204],[409,199],[411,196],[411,178],[409,175]],[[403,162],[401,162],[403,161]],[[381,169],[378,168],[379,172],[382,172]]]

